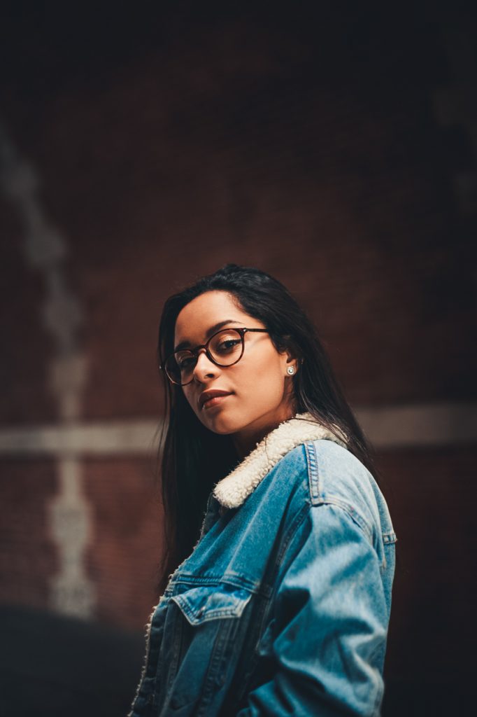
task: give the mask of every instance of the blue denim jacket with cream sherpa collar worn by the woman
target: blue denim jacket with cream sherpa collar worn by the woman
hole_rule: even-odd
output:
[[[344,440],[284,422],[211,493],[129,717],[379,716],[395,541]]]

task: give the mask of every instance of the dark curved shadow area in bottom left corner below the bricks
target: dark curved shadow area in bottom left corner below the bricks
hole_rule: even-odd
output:
[[[21,607],[0,608],[1,717],[124,717],[144,635]]]

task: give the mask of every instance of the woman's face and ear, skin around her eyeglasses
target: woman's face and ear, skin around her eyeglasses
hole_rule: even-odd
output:
[[[226,322],[226,323],[223,323]],[[188,303],[175,322],[174,346],[195,348],[219,328],[265,328],[238,308],[225,291],[209,291]],[[193,412],[214,433],[232,435],[244,455],[271,429],[294,415],[291,376],[286,369],[297,361],[288,351],[279,353],[268,333],[246,333],[244,355],[233,366],[216,366],[202,349],[193,380],[183,386]],[[203,391],[226,391],[226,395],[202,404]]]

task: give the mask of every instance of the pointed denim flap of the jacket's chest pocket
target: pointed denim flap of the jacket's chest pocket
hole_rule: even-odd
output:
[[[193,587],[171,600],[180,607],[191,625],[217,618],[240,617],[251,598],[251,592],[233,585]]]

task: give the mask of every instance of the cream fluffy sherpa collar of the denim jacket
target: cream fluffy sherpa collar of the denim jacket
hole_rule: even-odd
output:
[[[226,478],[217,483],[213,495],[224,508],[238,508],[274,465],[305,441],[326,438],[346,447],[344,436],[339,430],[338,433],[343,440],[339,440],[328,428],[317,422],[312,414],[297,414],[257,443],[256,448]]]

